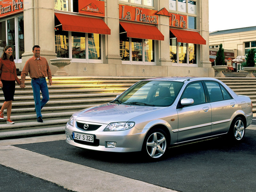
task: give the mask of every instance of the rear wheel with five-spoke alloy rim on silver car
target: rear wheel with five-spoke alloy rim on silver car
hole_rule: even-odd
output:
[[[245,126],[241,117],[236,117],[229,128],[228,137],[231,141],[241,142],[244,139]]]

